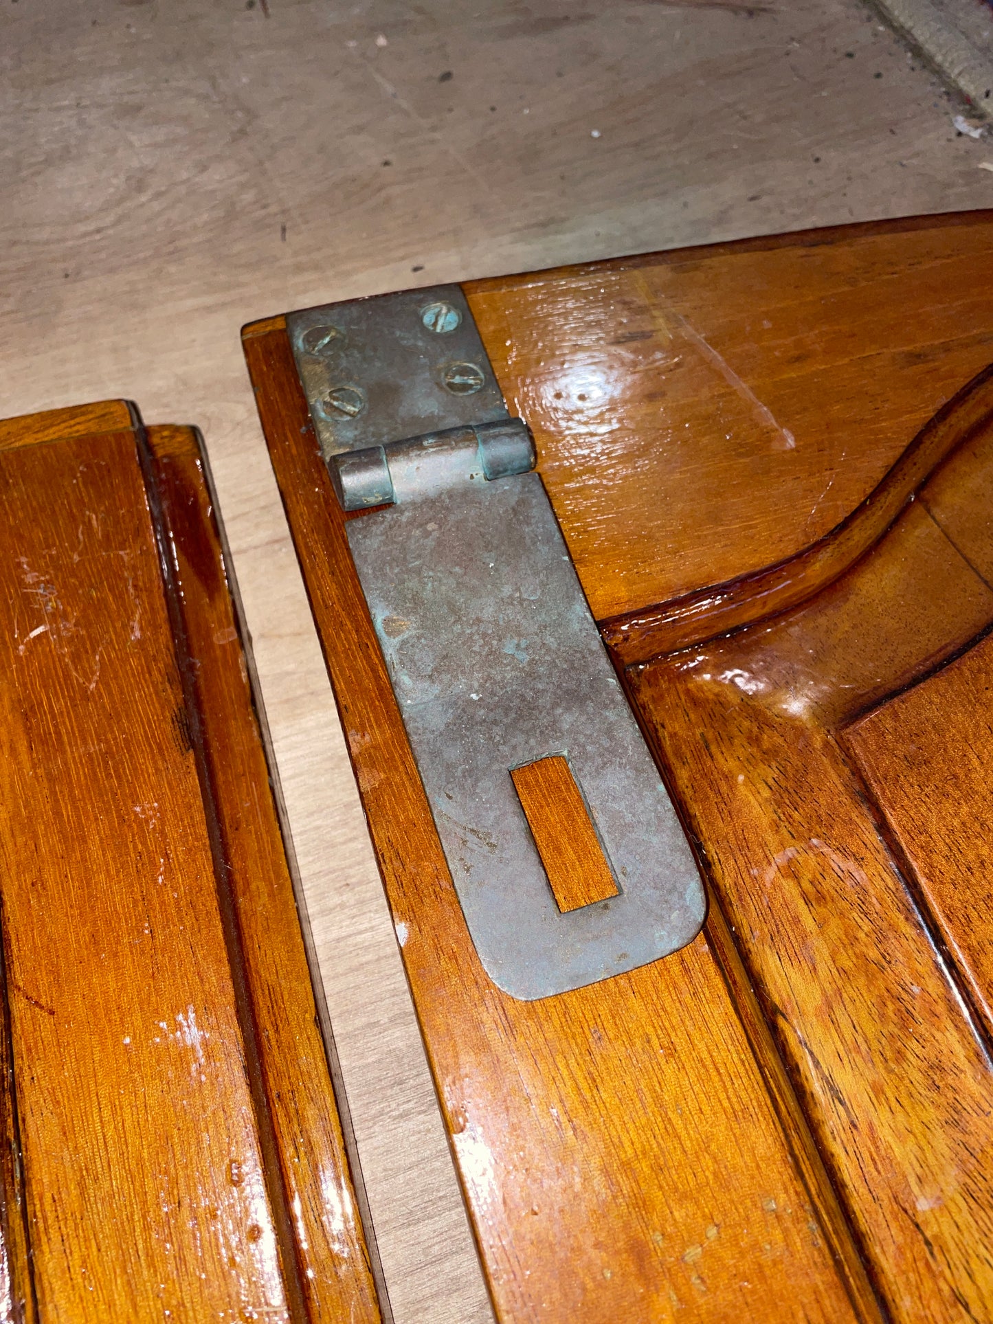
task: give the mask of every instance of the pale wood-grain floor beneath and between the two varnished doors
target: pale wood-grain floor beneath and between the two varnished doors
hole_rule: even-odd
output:
[[[489,1316],[242,365],[244,322],[993,203],[854,0],[1,0],[4,414],[204,432],[401,1324]]]

